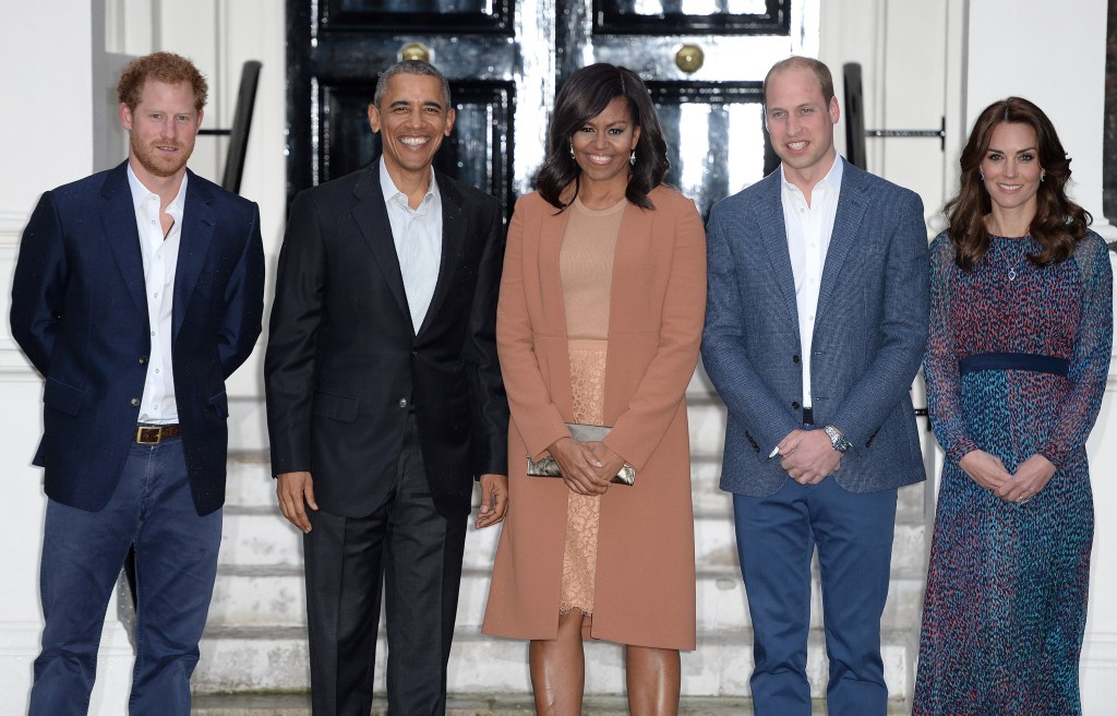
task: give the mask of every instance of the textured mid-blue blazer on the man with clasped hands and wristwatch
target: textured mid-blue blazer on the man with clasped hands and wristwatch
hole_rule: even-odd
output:
[[[844,161],[844,160],[841,160]],[[703,363],[728,408],[722,488],[790,479],[772,449],[802,427],[795,283],[775,171],[718,202],[707,231]],[[927,343],[927,231],[919,197],[847,163],[819,289],[814,422],[853,443],[836,479],[869,493],[925,479],[911,381]]]

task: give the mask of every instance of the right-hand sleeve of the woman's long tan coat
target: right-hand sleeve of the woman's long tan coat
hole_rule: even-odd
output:
[[[698,210],[689,200],[675,212],[674,219],[675,246],[663,295],[659,350],[629,400],[628,410],[618,417],[604,439],[613,452],[637,470],[642,469],[675,419],[698,363],[701,343],[706,232]]]

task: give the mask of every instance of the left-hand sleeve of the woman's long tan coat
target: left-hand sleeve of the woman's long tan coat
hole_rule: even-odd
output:
[[[526,226],[538,225],[538,211],[546,209],[542,200],[521,199],[508,226],[508,246],[504,256],[500,277],[500,298],[497,302],[496,338],[500,353],[500,369],[508,391],[508,404],[515,417],[516,430],[527,451],[540,457],[555,440],[569,438],[570,430],[558,408],[551,400],[540,364],[535,357],[531,316],[524,289],[524,233]]]

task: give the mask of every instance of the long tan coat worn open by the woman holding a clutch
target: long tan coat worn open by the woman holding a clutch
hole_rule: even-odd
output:
[[[602,496],[592,636],[695,647],[694,512],[684,393],[706,305],[706,239],[694,202],[672,189],[655,210],[624,209],[613,261],[605,364],[605,443],[636,467],[636,485]],[[567,487],[527,477],[527,457],[573,422],[558,250],[569,213],[537,193],[508,229],[497,344],[512,421],[509,507],[485,633],[554,639],[558,629]]]

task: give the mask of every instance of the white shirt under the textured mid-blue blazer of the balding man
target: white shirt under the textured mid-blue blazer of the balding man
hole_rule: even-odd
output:
[[[830,248],[830,235],[838,214],[838,197],[841,193],[842,159],[834,156],[833,166],[819,183],[811,189],[810,204],[798,187],[784,178],[782,180],[783,222],[787,229],[787,250],[791,254],[791,269],[795,276],[795,304],[799,308],[799,343],[803,366],[803,408],[814,403],[811,397],[811,343],[814,337],[814,316],[819,307],[819,285],[822,283],[822,267]]]

